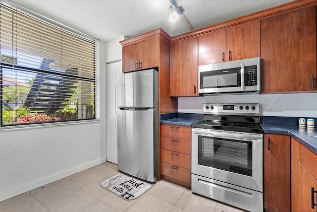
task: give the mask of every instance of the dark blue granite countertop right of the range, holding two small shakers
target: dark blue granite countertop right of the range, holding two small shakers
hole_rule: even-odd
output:
[[[300,128],[298,126],[271,125],[261,123],[264,133],[288,135],[296,141],[302,143],[308,149],[317,154],[317,129]]]

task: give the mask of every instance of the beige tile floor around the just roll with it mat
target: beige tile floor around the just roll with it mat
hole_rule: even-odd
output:
[[[161,180],[136,200],[99,186],[118,172],[105,162],[0,202],[0,212],[242,212]]]

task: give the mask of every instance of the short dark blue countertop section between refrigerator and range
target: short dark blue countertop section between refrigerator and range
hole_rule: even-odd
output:
[[[199,122],[202,120],[203,120],[203,114],[197,114],[197,113],[161,113],[159,123],[191,127],[191,125],[193,123]]]

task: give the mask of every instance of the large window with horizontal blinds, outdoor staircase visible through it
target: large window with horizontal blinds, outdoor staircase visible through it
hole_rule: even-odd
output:
[[[96,119],[99,43],[0,4],[1,127]]]

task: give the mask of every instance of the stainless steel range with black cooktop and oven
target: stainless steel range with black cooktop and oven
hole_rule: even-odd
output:
[[[203,104],[192,124],[192,192],[263,212],[263,129],[260,105]]]

